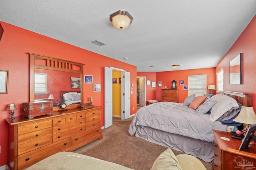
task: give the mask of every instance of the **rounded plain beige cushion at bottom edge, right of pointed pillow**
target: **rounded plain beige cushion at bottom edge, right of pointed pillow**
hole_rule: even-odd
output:
[[[189,154],[179,154],[176,156],[182,170],[206,170],[204,165],[196,157]]]

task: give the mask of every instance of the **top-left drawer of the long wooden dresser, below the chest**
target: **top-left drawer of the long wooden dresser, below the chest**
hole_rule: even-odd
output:
[[[33,131],[38,131],[41,129],[45,129],[48,127],[52,127],[52,120],[48,121],[40,121],[37,123],[32,123],[30,125],[24,125],[24,126],[19,126],[18,127],[18,135],[24,134],[24,133],[30,133]]]

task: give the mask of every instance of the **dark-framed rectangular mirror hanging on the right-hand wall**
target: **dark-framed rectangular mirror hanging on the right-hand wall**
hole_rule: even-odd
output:
[[[242,84],[242,53],[229,62],[229,84]]]

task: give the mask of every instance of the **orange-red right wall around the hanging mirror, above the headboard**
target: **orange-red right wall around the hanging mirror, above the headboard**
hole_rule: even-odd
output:
[[[242,53],[242,84],[229,84],[229,62]],[[216,67],[216,72],[223,68],[225,91],[248,93],[248,106],[256,112],[256,16],[232,45],[228,53]]]

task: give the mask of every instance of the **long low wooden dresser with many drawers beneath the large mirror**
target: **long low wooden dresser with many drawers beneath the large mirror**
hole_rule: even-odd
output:
[[[54,111],[52,115],[8,122],[8,166],[23,169],[54,153],[102,139],[101,108]]]

